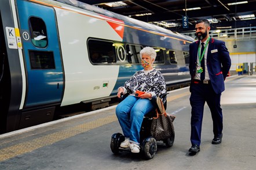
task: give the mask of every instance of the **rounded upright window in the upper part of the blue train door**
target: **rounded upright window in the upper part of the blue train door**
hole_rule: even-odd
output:
[[[45,48],[48,43],[45,22],[41,18],[30,17],[30,36],[35,47]]]

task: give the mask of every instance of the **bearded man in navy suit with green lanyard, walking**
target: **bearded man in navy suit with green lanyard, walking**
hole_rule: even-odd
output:
[[[200,151],[203,109],[205,102],[213,119],[214,138],[211,143],[222,141],[221,93],[224,80],[231,67],[231,58],[224,41],[209,36],[210,23],[200,20],[195,25],[198,41],[189,45],[189,72],[191,74],[191,143],[189,152]]]

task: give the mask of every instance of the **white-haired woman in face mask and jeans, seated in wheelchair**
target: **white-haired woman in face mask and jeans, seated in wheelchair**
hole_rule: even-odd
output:
[[[131,92],[116,107],[116,116],[126,139],[120,147],[129,148],[131,152],[140,152],[140,129],[144,115],[151,111],[154,106],[151,103],[153,96],[166,93],[166,83],[160,71],[153,69],[152,65],[156,58],[156,52],[151,47],[145,47],[140,51],[141,65],[143,70],[137,71],[125,85],[118,88],[118,97],[121,93]],[[144,92],[135,95],[136,90]]]

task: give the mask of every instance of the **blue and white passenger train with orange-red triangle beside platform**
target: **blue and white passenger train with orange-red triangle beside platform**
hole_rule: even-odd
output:
[[[167,86],[190,80],[194,39],[75,0],[0,1],[0,133],[56,119],[61,108],[102,108],[142,70],[140,50]]]

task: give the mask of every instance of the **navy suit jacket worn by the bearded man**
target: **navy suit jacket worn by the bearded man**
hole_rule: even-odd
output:
[[[191,74],[191,82],[196,73],[199,44],[200,41],[198,40],[189,45],[189,72]],[[224,80],[231,67],[231,58],[224,41],[210,38],[206,63],[214,92],[220,94],[225,90]]]

